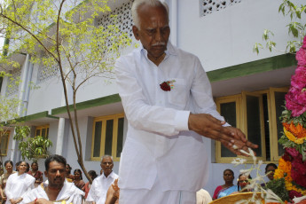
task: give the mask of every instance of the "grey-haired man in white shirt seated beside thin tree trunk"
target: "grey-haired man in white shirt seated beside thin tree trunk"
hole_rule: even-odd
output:
[[[105,204],[106,194],[109,186],[114,183],[114,180],[118,178],[113,171],[114,161],[110,155],[104,155],[100,164],[103,169],[103,174],[96,177],[90,187],[86,201],[95,204]]]

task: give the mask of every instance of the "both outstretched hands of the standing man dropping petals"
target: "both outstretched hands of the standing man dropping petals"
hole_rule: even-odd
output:
[[[257,148],[257,145],[247,141],[240,129],[224,127],[222,122],[210,114],[190,114],[188,127],[204,137],[220,141],[232,153],[240,153],[239,150],[247,151],[248,148]],[[234,148],[236,147],[236,148]]]

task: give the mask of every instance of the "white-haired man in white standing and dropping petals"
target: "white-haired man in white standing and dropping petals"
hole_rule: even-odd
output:
[[[256,145],[216,112],[200,60],[169,43],[168,6],[135,0],[132,15],[133,34],[142,45],[115,65],[129,122],[119,203],[195,203],[208,177],[202,136],[238,154]]]

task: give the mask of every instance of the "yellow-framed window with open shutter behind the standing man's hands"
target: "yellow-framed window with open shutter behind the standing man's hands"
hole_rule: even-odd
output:
[[[243,91],[239,95],[216,98],[218,112],[231,126],[241,129],[263,161],[279,161],[283,153],[278,140],[282,124],[279,117],[284,110],[287,88],[271,88],[255,92]],[[216,142],[216,161],[231,162],[236,157],[227,148]]]

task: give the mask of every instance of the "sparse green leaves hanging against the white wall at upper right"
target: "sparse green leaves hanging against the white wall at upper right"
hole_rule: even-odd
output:
[[[290,23],[286,27],[288,27],[288,35],[292,35],[295,40],[287,42],[286,52],[294,53],[302,45],[302,38],[306,35],[306,24],[302,24],[302,18],[305,18],[306,4],[296,5],[290,0],[283,0],[282,4],[279,5],[279,12],[284,17],[290,17]],[[263,31],[263,41],[266,43],[266,48],[272,51],[276,49],[276,43],[271,40],[270,34],[274,35],[269,29],[265,29]],[[253,51],[257,54],[259,48],[263,49],[263,46],[259,46],[259,44],[255,43],[253,47]]]

